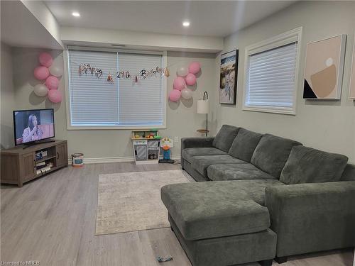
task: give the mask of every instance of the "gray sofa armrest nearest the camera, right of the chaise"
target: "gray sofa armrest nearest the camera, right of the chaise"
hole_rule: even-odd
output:
[[[265,204],[278,257],[354,247],[354,181],[268,187]]]

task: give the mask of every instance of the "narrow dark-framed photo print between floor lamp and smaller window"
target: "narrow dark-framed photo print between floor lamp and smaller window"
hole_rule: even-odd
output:
[[[219,104],[236,104],[238,50],[221,55]]]

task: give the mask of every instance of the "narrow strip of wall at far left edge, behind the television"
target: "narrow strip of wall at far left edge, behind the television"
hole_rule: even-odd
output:
[[[13,145],[12,111],[15,106],[11,47],[1,43],[1,148]]]

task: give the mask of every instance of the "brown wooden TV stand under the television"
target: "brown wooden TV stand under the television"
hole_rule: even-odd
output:
[[[48,155],[43,159],[35,160],[35,153],[41,150],[47,150]],[[37,164],[40,162],[51,162],[53,167],[45,173],[37,174]],[[25,182],[67,165],[67,140],[38,143],[26,149],[23,149],[23,145],[19,145],[1,150],[1,183],[17,184],[18,187],[22,187]]]

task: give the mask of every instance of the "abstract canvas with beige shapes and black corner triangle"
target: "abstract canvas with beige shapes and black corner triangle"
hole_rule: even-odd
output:
[[[340,99],[346,35],[307,44],[303,99]]]

